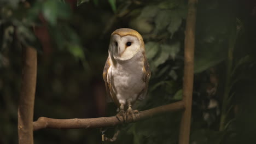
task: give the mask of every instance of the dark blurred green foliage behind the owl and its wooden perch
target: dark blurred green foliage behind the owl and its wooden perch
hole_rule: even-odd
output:
[[[34,121],[113,116],[102,71],[110,34],[142,34],[152,71],[146,110],[182,99],[188,1],[0,1],[0,143],[18,143],[21,45],[38,51]],[[77,6],[79,5],[79,6]],[[256,2],[199,0],[190,143],[256,140]],[[222,122],[220,119],[224,119]],[[114,143],[178,143],[181,112],[120,125]],[[109,127],[112,137],[117,127]],[[43,129],[34,143],[100,143],[100,129]]]

